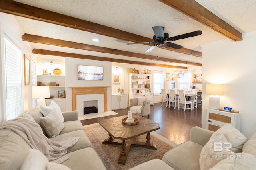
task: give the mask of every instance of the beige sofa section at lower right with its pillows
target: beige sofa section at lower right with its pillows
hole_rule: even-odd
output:
[[[162,160],[175,170],[253,170],[256,167],[256,133],[247,141],[230,124],[216,132],[193,127],[190,141],[170,149]]]

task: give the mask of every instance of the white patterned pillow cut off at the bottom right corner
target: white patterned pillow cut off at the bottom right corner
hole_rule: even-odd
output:
[[[236,153],[220,161],[210,170],[254,170],[256,156],[247,153]]]

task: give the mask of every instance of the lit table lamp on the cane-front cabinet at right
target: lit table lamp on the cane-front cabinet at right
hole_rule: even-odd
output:
[[[223,84],[206,84],[206,94],[209,97],[209,108],[220,109],[220,95],[223,95]]]

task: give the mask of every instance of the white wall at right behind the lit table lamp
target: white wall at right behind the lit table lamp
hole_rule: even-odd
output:
[[[241,113],[240,131],[250,138],[256,131],[256,31],[243,34],[243,41],[228,39],[202,45],[202,127],[206,128],[205,109],[208,107],[206,83],[224,84],[220,108],[227,106]]]

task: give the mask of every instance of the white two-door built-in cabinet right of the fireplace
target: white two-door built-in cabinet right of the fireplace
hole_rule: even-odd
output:
[[[112,110],[127,108],[127,94],[113,94],[112,95]]]

